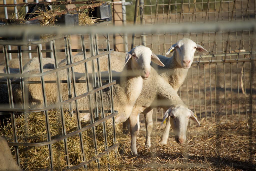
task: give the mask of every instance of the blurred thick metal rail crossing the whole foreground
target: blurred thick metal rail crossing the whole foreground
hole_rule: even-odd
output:
[[[27,35],[42,35],[42,34],[113,34],[113,33],[145,33],[152,32],[184,32],[190,33],[194,31],[222,31],[222,30],[245,30],[256,28],[256,22],[223,22],[223,23],[190,23],[190,24],[159,24],[159,25],[126,25],[126,26],[74,26],[74,27],[38,27],[38,26],[4,26],[1,27],[0,36],[23,36]],[[8,42],[7,42],[8,45]]]

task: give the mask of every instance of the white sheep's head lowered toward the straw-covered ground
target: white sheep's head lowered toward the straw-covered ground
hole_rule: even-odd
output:
[[[170,123],[174,131],[175,141],[179,144],[183,144],[187,139],[186,132],[189,119],[193,120],[200,126],[196,115],[188,108],[181,107],[176,109],[168,109],[164,114],[162,123],[165,121],[165,119],[167,119],[167,117],[170,117]]]

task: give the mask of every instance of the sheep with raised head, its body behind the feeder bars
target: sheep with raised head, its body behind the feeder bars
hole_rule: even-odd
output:
[[[115,110],[119,111],[119,114],[116,116],[116,123],[122,123],[127,120],[132,111],[132,107],[140,95],[142,89],[143,79],[148,79],[150,77],[150,62],[153,61],[158,65],[164,66],[164,64],[158,59],[156,55],[152,53],[150,48],[144,46],[137,46],[133,48],[130,52],[126,54],[125,57],[125,67],[122,72],[115,72],[113,75],[113,80],[116,80],[116,84],[113,86],[113,100]],[[46,71],[46,70],[45,70]],[[34,70],[28,72],[33,74]],[[84,74],[78,74],[79,76],[84,76]],[[76,79],[84,79],[83,77],[76,76]],[[105,75],[105,76],[104,76]],[[59,78],[67,78],[65,71],[59,72]],[[49,74],[44,76],[45,80],[56,80],[56,74]],[[108,74],[102,73],[102,79],[108,79]],[[27,81],[38,81],[40,78],[30,77]],[[90,85],[92,87],[92,85]],[[41,108],[43,107],[43,97],[42,93],[39,93],[41,90],[40,84],[27,84],[25,88],[28,89],[29,102],[31,103],[32,108]],[[45,84],[46,96],[48,105],[57,103],[57,88],[52,84]],[[21,90],[19,86],[14,87],[14,100],[16,103],[21,104]],[[67,84],[61,84],[62,98],[63,100],[68,99],[68,88]],[[87,88],[84,83],[76,83],[76,93],[77,95],[87,92]],[[98,94],[99,95],[99,94]],[[103,90],[103,100],[105,106],[110,106],[109,89]],[[82,98],[78,100],[79,110],[88,110],[88,99]],[[106,105],[107,104],[107,105]],[[68,109],[68,106],[63,106],[64,109]],[[84,119],[88,119],[88,115],[83,116]]]

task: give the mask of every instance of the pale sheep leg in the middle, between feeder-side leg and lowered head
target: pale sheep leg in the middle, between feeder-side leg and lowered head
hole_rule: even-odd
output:
[[[145,148],[151,147],[151,132],[153,128],[153,109],[149,111],[148,113],[144,114],[145,117],[145,123],[146,123],[146,142],[145,142]]]

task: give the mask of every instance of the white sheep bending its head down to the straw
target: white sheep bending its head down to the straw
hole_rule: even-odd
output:
[[[199,124],[193,112],[190,111],[183,101],[179,98],[176,90],[161,77],[154,68],[151,68],[151,76],[147,80],[143,80],[143,88],[136,103],[134,104],[132,114],[128,121],[130,123],[131,151],[137,154],[136,136],[138,132],[138,113],[143,113],[147,123],[146,129],[152,130],[152,117],[147,117],[148,112],[154,108],[163,108],[166,111],[166,118],[169,111],[173,111],[172,115],[176,117],[176,124],[172,124],[175,130],[175,139],[178,143],[183,143],[186,140],[187,123],[189,118],[193,119]],[[199,124],[200,125],[200,124]],[[166,131],[166,130],[165,130]],[[150,145],[150,133],[146,134],[146,145]],[[168,138],[168,137],[167,137]]]

